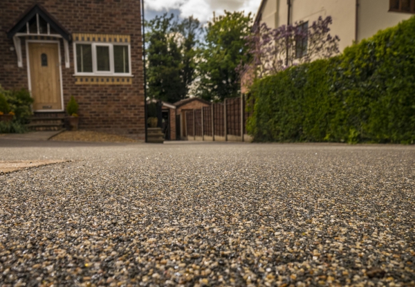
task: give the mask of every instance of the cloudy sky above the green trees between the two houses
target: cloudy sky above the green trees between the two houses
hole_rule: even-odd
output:
[[[223,10],[255,14],[260,3],[261,0],[144,0],[144,7],[146,20],[169,12],[181,18],[193,16],[203,23],[212,19],[213,12],[223,15]]]

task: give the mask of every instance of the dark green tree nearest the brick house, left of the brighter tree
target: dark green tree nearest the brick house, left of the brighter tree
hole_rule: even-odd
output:
[[[195,75],[199,20],[157,16],[147,24],[147,86],[150,98],[176,102],[187,96]]]

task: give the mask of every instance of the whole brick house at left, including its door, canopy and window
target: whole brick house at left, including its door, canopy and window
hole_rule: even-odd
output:
[[[145,140],[140,1],[1,0],[0,84],[30,91],[35,115]]]

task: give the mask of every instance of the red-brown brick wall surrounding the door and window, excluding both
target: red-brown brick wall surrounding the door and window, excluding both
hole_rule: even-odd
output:
[[[71,67],[65,68],[60,40],[64,107],[71,95],[80,104],[80,129],[122,133],[144,140],[144,91],[142,37],[138,0],[0,0],[0,84],[5,89],[28,89],[26,46],[21,37],[23,68],[17,67],[12,39],[6,32],[30,6],[41,4],[70,33],[102,33],[131,36],[131,85],[75,85],[73,44]]]

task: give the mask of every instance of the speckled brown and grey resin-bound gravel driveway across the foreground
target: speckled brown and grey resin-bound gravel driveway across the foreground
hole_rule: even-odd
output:
[[[415,286],[413,146],[0,149],[45,158],[0,175],[0,286]]]

